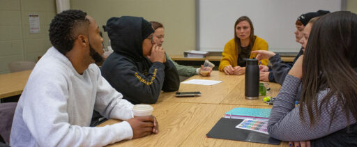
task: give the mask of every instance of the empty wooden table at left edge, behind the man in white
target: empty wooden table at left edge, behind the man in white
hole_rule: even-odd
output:
[[[20,95],[32,70],[0,75],[0,99]]]

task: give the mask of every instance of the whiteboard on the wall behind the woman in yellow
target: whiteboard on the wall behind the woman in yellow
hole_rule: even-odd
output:
[[[252,20],[255,35],[273,52],[298,52],[295,22],[303,13],[345,10],[344,0],[197,0],[197,49],[222,52],[234,38],[234,22],[243,15]],[[344,7],[344,8],[343,8]]]

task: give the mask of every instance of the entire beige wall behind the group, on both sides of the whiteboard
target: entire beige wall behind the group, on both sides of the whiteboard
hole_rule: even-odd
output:
[[[11,61],[36,61],[51,46],[48,26],[56,13],[54,0],[0,0],[0,74]],[[196,47],[195,0],[70,0],[70,7],[93,16],[100,30],[109,17],[141,16],[165,25],[168,54]],[[357,1],[347,0],[347,10],[357,13]],[[40,33],[29,33],[29,14],[40,15]],[[107,45],[107,33],[104,33]]]

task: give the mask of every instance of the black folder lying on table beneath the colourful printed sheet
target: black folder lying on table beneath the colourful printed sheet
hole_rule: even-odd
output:
[[[268,134],[238,129],[236,125],[241,123],[243,119],[220,118],[211,131],[206,134],[208,138],[229,139],[237,141],[248,141],[261,144],[280,144],[280,140],[270,137]]]

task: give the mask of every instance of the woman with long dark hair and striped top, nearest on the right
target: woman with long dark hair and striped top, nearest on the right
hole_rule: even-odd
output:
[[[312,26],[274,102],[271,137],[312,146],[357,146],[357,15],[335,12]],[[295,107],[298,86],[301,102]]]

